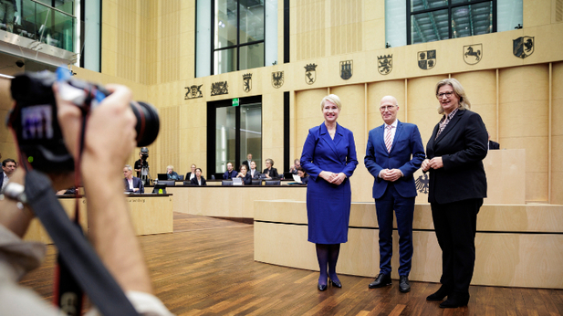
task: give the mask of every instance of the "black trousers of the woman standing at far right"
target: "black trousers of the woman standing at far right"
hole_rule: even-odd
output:
[[[438,244],[442,248],[442,283],[448,290],[469,293],[475,265],[475,232],[482,198],[447,204],[431,203]]]

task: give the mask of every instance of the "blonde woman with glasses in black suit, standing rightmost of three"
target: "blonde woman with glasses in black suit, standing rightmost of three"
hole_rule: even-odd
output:
[[[470,111],[464,88],[456,79],[436,85],[442,120],[426,145],[430,171],[428,202],[438,244],[442,248],[442,287],[426,300],[444,300],[441,308],[467,305],[475,262],[477,213],[486,197],[483,159],[487,132],[479,114]]]

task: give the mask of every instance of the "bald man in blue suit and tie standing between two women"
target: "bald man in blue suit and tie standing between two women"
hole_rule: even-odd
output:
[[[412,216],[416,185],[412,174],[421,167],[424,147],[414,124],[397,120],[397,99],[386,96],[380,103],[385,123],[370,131],[364,163],[373,175],[373,198],[380,228],[380,274],[370,289],[391,285],[393,210],[399,231],[399,290],[408,292],[412,266]]]

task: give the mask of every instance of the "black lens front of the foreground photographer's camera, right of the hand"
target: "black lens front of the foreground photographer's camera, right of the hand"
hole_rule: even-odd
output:
[[[131,110],[137,118],[137,147],[150,145],[159,135],[161,121],[156,109],[149,103],[142,101],[131,102]]]

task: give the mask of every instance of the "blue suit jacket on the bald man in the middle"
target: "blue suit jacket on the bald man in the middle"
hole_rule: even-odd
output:
[[[370,131],[364,163],[373,175],[373,198],[380,198],[387,189],[389,181],[379,177],[382,169],[399,169],[403,176],[395,181],[395,189],[402,197],[416,196],[414,174],[424,160],[424,147],[418,127],[411,123],[398,121],[391,152],[387,152],[383,136],[385,124]]]

